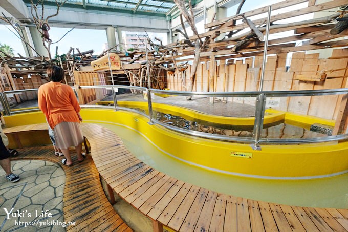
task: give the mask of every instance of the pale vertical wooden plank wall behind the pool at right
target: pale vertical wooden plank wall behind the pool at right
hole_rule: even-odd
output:
[[[321,90],[344,88],[348,76],[348,49],[333,50],[332,57],[335,59],[319,59],[319,54],[306,54],[296,52],[292,54],[290,69],[287,70],[287,53],[271,55],[267,57],[264,74],[264,91],[290,91],[290,90]],[[338,58],[342,57],[342,58]],[[230,61],[227,65],[223,60],[214,69],[213,87],[217,92],[239,92],[258,91],[262,56],[246,58],[245,61],[237,60],[235,64]],[[196,73],[196,87],[194,91],[207,92],[209,87],[209,62],[199,65]],[[208,68],[207,68],[208,67]],[[338,71],[331,71],[342,69]],[[321,81],[297,80],[297,75],[318,76],[321,72],[327,71],[327,78]],[[184,90],[180,86],[173,85],[176,75],[168,75],[168,88],[170,90]],[[293,113],[322,117],[325,119],[336,119],[340,99],[339,95],[308,96],[308,97],[283,97],[280,99],[280,107],[277,110]],[[232,98],[228,98],[232,101]],[[237,101],[243,103],[243,101]],[[254,101],[244,103],[254,104]],[[325,106],[325,107],[322,107]]]

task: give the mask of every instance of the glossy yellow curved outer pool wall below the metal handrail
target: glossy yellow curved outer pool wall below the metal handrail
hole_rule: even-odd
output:
[[[29,124],[42,122],[39,116],[42,113],[29,114],[33,120]],[[262,145],[262,151],[254,151],[249,144],[178,134],[160,125],[150,125],[147,118],[131,112],[83,109],[81,115],[84,122],[126,126],[167,155],[214,172],[265,179],[310,179],[348,171],[348,142]],[[5,120],[8,126],[13,126],[22,117],[5,116]]]

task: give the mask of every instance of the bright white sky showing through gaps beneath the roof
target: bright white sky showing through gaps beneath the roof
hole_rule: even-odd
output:
[[[257,9],[263,6],[267,6],[270,4],[274,4],[277,2],[280,2],[281,0],[266,0],[266,1],[258,1],[259,4],[255,4],[254,0],[247,0],[245,4],[242,7],[241,12],[246,12],[252,9]],[[302,8],[307,6],[307,2],[299,5],[297,8]],[[231,7],[227,10],[227,17],[232,16],[235,14],[237,5],[234,7]],[[292,7],[291,10],[294,10],[295,8]],[[284,11],[290,11],[289,10],[282,10],[281,11],[272,11],[272,15],[278,14],[278,13],[284,13]],[[267,17],[267,13],[260,17]],[[305,17],[301,16],[301,20],[312,18],[312,14],[309,14]],[[254,18],[253,18],[254,19]],[[293,20],[292,22],[294,22]],[[281,22],[286,23],[286,22]],[[203,27],[203,22],[197,24],[198,27]],[[8,28],[10,28],[10,25],[7,25]],[[69,28],[51,28],[49,31],[50,38],[53,41],[57,41],[60,39],[68,30]],[[202,29],[199,29],[201,31]],[[133,32],[134,33],[134,32]],[[139,32],[143,34],[143,32]],[[149,33],[150,34],[150,33]],[[151,33],[152,34],[152,33]],[[5,25],[0,25],[0,43],[1,44],[7,44],[10,47],[14,49],[14,53],[20,53],[21,55],[25,56],[25,52],[23,49],[23,46],[21,44],[21,41],[19,38],[16,37],[15,34],[13,34],[9,29],[5,27]],[[152,37],[153,35],[150,35]],[[284,35],[276,35],[276,36],[284,36]],[[165,34],[162,34],[160,36],[163,38],[163,41],[166,40]],[[271,37],[270,37],[271,39]],[[61,55],[63,53],[66,53],[70,47],[78,48],[81,52],[87,51],[90,49],[93,49],[95,52],[94,55],[99,55],[103,51],[104,44],[107,43],[106,39],[106,32],[105,30],[90,30],[90,29],[74,29],[73,31],[69,32],[68,35],[66,35],[59,43],[53,44],[51,46],[51,53],[52,56],[55,54],[56,46],[58,46],[58,54]]]

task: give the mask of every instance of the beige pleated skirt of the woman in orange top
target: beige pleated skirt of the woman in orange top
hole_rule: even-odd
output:
[[[61,122],[53,129],[56,147],[68,149],[70,146],[78,146],[83,142],[80,123]]]

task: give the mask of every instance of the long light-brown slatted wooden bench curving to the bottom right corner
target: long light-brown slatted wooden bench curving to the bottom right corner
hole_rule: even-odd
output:
[[[82,130],[109,189],[152,219],[154,231],[161,231],[162,225],[185,232],[348,231],[348,209],[289,206],[210,191],[144,164],[111,130],[86,123]]]

